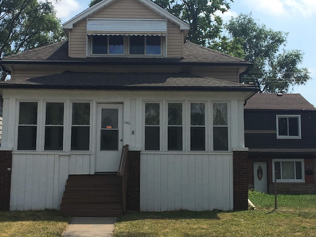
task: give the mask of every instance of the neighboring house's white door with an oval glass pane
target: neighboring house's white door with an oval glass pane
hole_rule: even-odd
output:
[[[262,193],[268,193],[267,162],[253,162],[253,188]]]

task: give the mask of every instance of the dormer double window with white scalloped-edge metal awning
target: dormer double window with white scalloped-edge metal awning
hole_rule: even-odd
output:
[[[88,56],[165,56],[165,20],[88,19]]]

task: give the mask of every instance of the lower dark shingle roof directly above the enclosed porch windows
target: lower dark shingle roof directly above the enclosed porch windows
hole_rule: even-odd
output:
[[[257,92],[254,86],[186,73],[82,73],[0,81],[0,88],[205,90]]]

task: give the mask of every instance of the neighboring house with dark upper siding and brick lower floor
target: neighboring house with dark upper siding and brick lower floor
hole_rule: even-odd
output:
[[[278,193],[315,194],[316,108],[300,94],[259,93],[244,119],[249,187],[274,193],[276,178]]]

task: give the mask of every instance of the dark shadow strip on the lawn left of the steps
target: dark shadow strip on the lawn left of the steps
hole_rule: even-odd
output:
[[[69,216],[61,215],[57,210],[41,211],[0,211],[0,222],[17,221],[56,221],[69,222]]]

